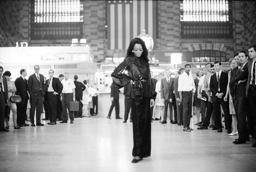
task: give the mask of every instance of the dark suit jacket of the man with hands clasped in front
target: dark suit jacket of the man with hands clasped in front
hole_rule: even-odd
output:
[[[217,100],[217,93],[223,93],[222,98],[226,95],[227,91],[227,85],[228,85],[228,74],[225,72],[221,72],[221,76],[219,77],[219,88],[220,92],[218,92],[218,81],[217,81],[217,75],[216,73],[211,76],[210,80],[210,90],[212,92],[212,102],[215,102]]]

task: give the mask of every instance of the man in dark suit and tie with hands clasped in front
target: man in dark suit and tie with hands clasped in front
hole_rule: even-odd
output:
[[[224,101],[224,96],[226,95],[227,85],[228,85],[228,73],[222,72],[221,62],[215,61],[214,67],[216,73],[211,76],[210,80],[210,90],[212,92],[212,103],[213,103],[213,113],[215,116],[216,128],[218,132],[222,132],[222,123],[221,123],[221,111],[220,106],[222,106],[224,115],[225,115],[225,124],[228,128],[228,132],[231,131],[231,116],[229,115],[229,105],[228,101]],[[232,131],[231,131],[232,132]],[[230,132],[230,133],[231,133]]]

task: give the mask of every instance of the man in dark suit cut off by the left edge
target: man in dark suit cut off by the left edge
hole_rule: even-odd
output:
[[[8,103],[7,79],[2,76],[3,67],[0,66],[0,131],[9,131],[4,128],[5,105]]]

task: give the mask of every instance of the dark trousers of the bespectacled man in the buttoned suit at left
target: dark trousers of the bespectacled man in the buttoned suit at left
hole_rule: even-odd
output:
[[[36,122],[41,123],[41,113],[43,112],[43,95],[38,94],[37,96],[34,96],[33,94],[30,95],[30,105],[31,105],[31,114],[30,114],[30,120],[31,123],[34,123],[34,116],[36,116]],[[37,108],[37,112],[35,115],[35,108]],[[27,107],[26,107],[27,109]]]

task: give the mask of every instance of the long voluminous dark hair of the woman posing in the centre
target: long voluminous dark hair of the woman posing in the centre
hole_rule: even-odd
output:
[[[141,57],[148,62],[149,61],[148,58],[147,58],[148,52],[147,52],[147,48],[146,48],[145,42],[141,38],[139,38],[139,37],[133,38],[133,40],[131,40],[130,45],[129,45],[128,49],[127,49],[126,57],[131,57],[131,56],[134,55],[132,50],[133,50],[133,47],[134,47],[135,44],[141,44],[142,49],[143,49]]]

